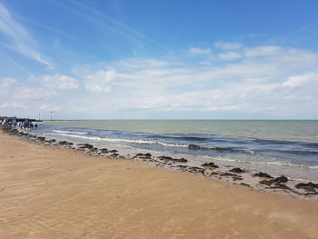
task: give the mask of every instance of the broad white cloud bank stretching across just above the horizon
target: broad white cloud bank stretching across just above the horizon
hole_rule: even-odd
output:
[[[314,72],[318,54],[263,45],[242,46],[238,51],[226,50],[220,55],[229,53],[237,53],[240,58],[235,62],[216,58],[202,65],[200,62],[189,64],[184,55],[175,55],[174,61],[168,57],[165,60],[129,58],[78,67],[76,78],[83,78],[84,88],[100,93],[89,96],[70,91],[68,94],[74,94],[66,97],[63,91],[58,91],[80,86],[74,78],[65,75],[34,77],[43,84],[41,87],[16,85],[15,79],[10,78],[0,79],[0,85],[8,85],[14,93],[10,97],[23,99],[25,105],[41,100],[43,105],[35,105],[35,111],[37,108],[50,111],[56,107],[53,111],[78,117],[135,114],[143,118],[155,117],[153,114],[157,113],[167,118],[175,114],[179,117],[252,115],[255,118],[314,115],[318,107],[318,73]],[[57,96],[52,97],[54,95]],[[2,102],[6,101],[11,99],[2,98]],[[98,104],[100,102],[107,102],[107,107]],[[81,106],[75,110],[75,105]]]

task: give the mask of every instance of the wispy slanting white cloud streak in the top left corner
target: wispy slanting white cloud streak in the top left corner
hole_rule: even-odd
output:
[[[0,3],[0,32],[6,36],[5,45],[20,55],[25,55],[35,61],[50,65],[42,54],[35,50],[35,39],[29,35],[25,28],[15,21],[5,5]]]

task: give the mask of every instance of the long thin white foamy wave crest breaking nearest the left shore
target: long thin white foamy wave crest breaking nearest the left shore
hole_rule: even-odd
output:
[[[63,134],[63,133],[57,134],[57,135],[74,137],[74,138],[82,138],[82,139],[88,139],[88,140],[94,140],[94,141],[125,142],[125,143],[132,143],[132,144],[162,144],[164,146],[170,146],[170,147],[187,147],[188,146],[187,144],[167,144],[164,142],[148,141],[148,140],[142,140],[142,139],[102,138],[97,136],[84,136],[84,135]]]

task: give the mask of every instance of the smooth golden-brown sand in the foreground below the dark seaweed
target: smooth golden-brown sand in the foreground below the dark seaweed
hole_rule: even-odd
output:
[[[0,238],[318,238],[318,203],[0,133]]]

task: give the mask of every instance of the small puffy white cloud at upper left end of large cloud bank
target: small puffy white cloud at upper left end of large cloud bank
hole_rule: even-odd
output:
[[[111,89],[110,83],[116,78],[116,71],[101,70],[91,75],[86,75],[85,89],[94,93],[108,93]]]

